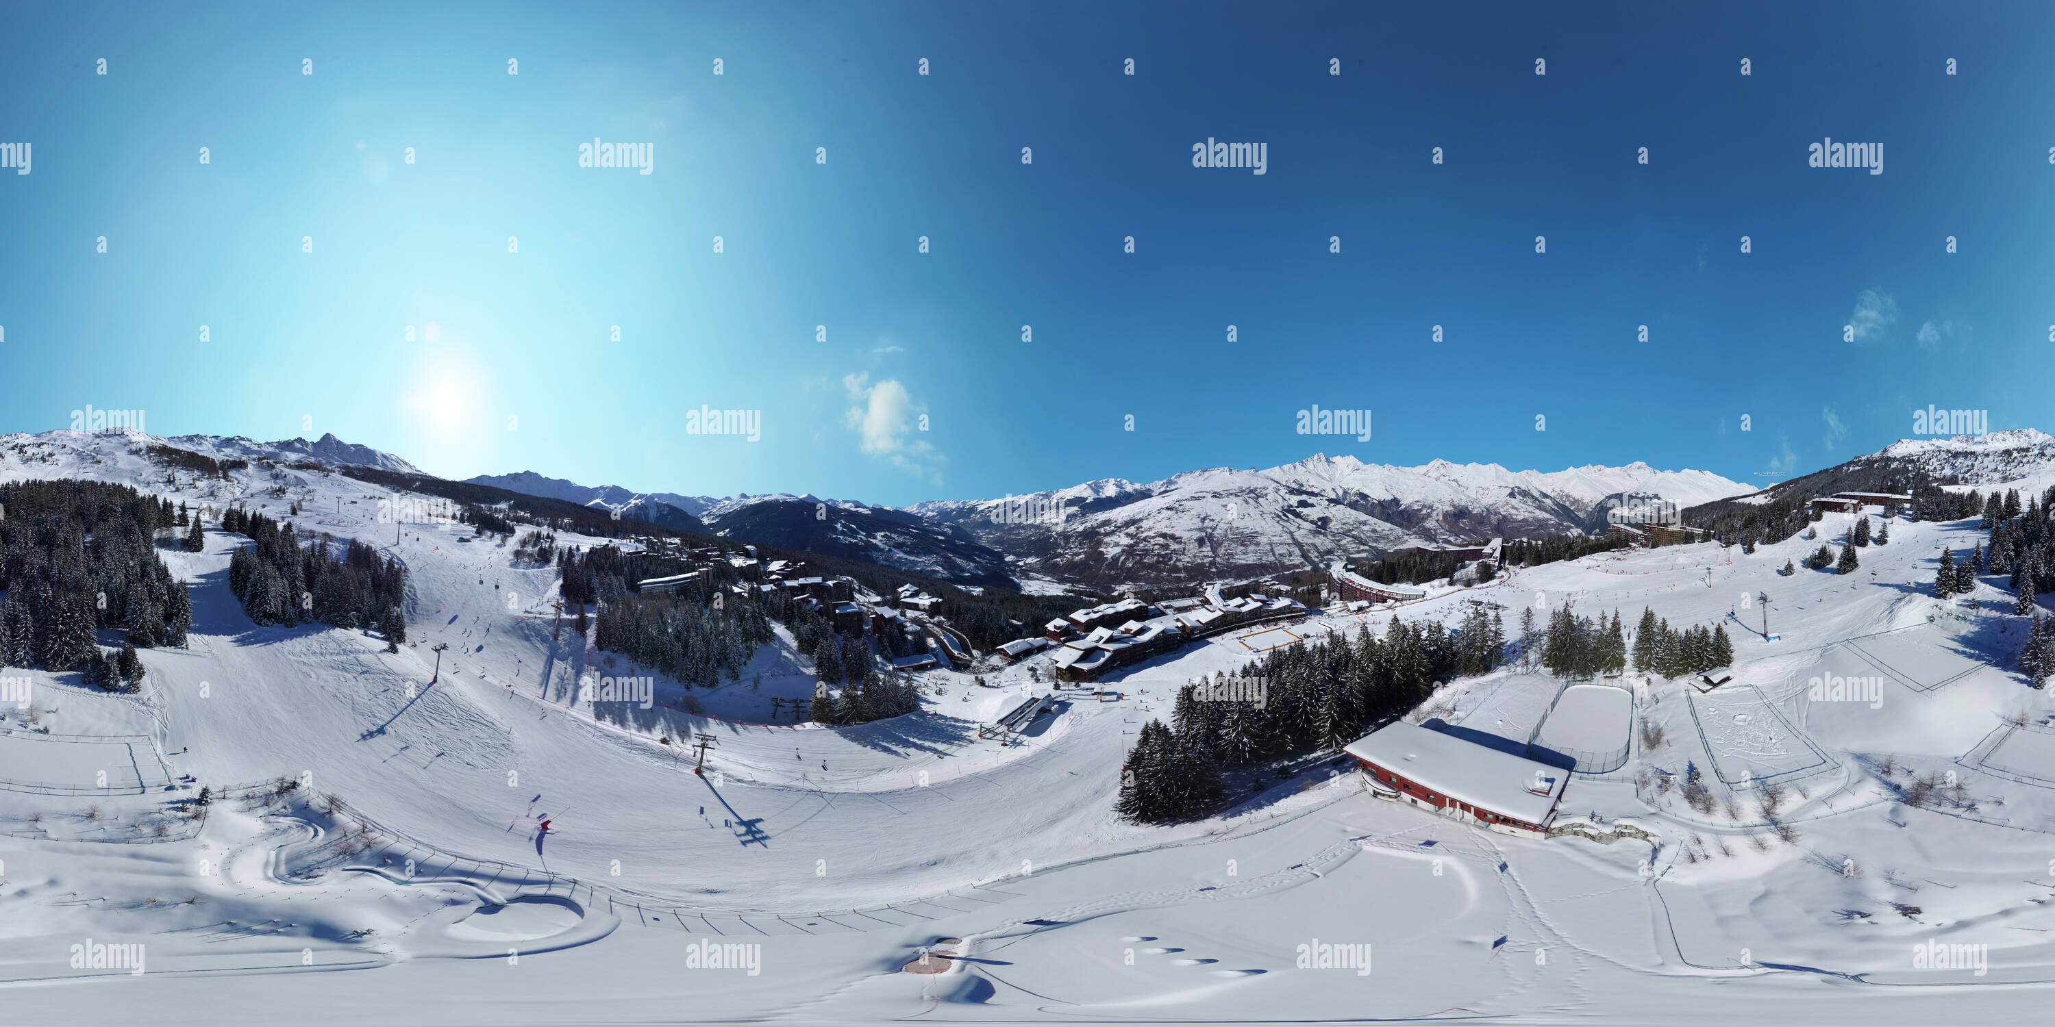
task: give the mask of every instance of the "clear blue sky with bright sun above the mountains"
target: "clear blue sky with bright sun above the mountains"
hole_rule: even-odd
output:
[[[2055,427],[2047,6],[421,6],[4,14],[0,431],[898,505],[1313,452],[1761,485],[1930,403]]]

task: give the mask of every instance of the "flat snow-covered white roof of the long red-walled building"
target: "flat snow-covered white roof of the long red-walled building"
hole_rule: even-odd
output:
[[[1570,772],[1406,721],[1350,741],[1342,752],[1383,766],[1451,799],[1492,813],[1545,824]],[[1531,789],[1537,781],[1547,791]]]

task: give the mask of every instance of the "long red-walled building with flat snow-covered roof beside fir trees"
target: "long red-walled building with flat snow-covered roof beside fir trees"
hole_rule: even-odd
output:
[[[1517,838],[1545,838],[1570,772],[1397,721],[1350,741],[1371,795]]]

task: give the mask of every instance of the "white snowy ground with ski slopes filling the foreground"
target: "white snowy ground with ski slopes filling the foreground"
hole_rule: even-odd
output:
[[[592,702],[582,676],[645,672],[606,668],[553,620],[547,569],[454,526],[380,524],[384,493],[347,477],[166,481],[119,440],[64,438],[0,440],[0,477],[90,468],[273,516],[302,501],[407,563],[413,641],[386,653],[349,631],[251,624],[226,583],[240,540],[210,532],[206,553],[162,553],[195,624],[189,649],[142,653],[140,696],[31,672],[0,778],[125,766],[154,781],[156,756],[129,739],[160,723],[171,776],[222,799],[191,820],[169,807],[197,793],[185,781],[0,789],[12,1023],[423,1023],[446,1009],[489,1023],[2014,1023],[2051,996],[2055,789],[2026,774],[2055,774],[2055,735],[2006,725],[2043,725],[2055,705],[2000,670],[2018,620],[2000,589],[1979,585],[1981,610],[1926,589],[1934,555],[1967,550],[1975,522],[1895,522],[1854,575],[1776,575],[1819,544],[1802,538],[1753,557],[1695,544],[1293,624],[1455,624],[1471,598],[1500,604],[1508,631],[1523,606],[1564,602],[1628,624],[1642,606],[1673,626],[1724,622],[1736,684],[1630,678],[1636,719],[1662,737],[1568,785],[1562,815],[1609,842],[1517,840],[1383,803],[1336,762],[1217,817],[1141,828],[1112,813],[1134,733],[1190,678],[1251,663],[1241,639],[1116,672],[1112,702],[1058,690],[1007,744],[978,727],[1048,690],[1030,680],[1046,680],[1046,655],[993,688],[927,672],[921,713],[861,727],[767,723],[771,696],[810,682],[785,637],[742,680],[658,676],[647,711]],[[1757,633],[1757,594],[1778,641]],[[429,684],[436,643],[450,649]],[[1813,698],[1813,678],[1878,682]],[[1426,707],[1525,741],[1560,684],[1502,670]],[[1607,702],[1611,737],[1626,715]],[[29,737],[31,713],[95,741]],[[699,733],[717,739],[703,776],[676,744]],[[1677,787],[1689,766],[1704,807]],[[1763,776],[1788,787],[1771,795]],[[294,789],[267,799],[282,778]],[[1942,799],[1909,803],[1926,778]],[[70,965],[88,939],[144,945],[146,972]],[[1981,947],[1983,972],[1915,965],[1930,941]],[[1301,965],[1301,947],[1367,955],[1369,974]],[[902,972],[923,949],[954,955]],[[314,980],[349,988],[310,998]]]

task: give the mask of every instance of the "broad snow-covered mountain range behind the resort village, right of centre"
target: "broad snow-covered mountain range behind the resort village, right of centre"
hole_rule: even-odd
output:
[[[1028,573],[1122,585],[1319,567],[1422,542],[1597,532],[1613,505],[1687,507],[1749,491],[1708,470],[1642,462],[1539,472],[1315,454],[1268,470],[1188,470],[1151,485],[1104,479],[906,509],[1009,553]]]

